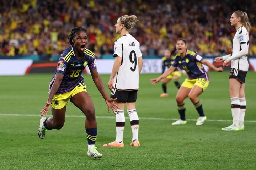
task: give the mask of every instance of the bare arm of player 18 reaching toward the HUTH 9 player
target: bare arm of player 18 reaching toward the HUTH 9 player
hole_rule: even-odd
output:
[[[108,106],[108,113],[110,112],[110,108],[115,113],[116,109],[119,109],[119,107],[116,104],[114,104],[114,102],[113,102],[116,99],[111,99],[108,97],[105,86],[103,84],[103,81],[102,81],[100,75],[98,74],[97,69],[95,69],[95,70],[90,69],[90,72],[91,72],[92,79],[93,79],[96,87],[98,88],[98,91],[100,91],[101,95],[103,96],[103,98],[106,101],[106,104]]]

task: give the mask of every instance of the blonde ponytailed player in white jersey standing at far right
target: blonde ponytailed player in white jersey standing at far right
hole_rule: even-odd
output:
[[[231,54],[216,57],[215,62],[223,62],[223,67],[231,61],[229,75],[229,93],[231,99],[231,113],[233,124],[222,128],[224,131],[244,130],[244,117],[246,109],[245,77],[248,71],[249,31],[251,25],[246,12],[235,11],[230,18],[231,26],[236,28],[232,42]]]

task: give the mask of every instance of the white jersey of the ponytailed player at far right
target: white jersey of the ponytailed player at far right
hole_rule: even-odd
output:
[[[236,31],[236,34],[234,36],[233,42],[232,42],[232,52],[231,56],[234,54],[239,53],[241,51],[241,44],[247,44],[247,48],[249,48],[249,33],[245,27],[240,27]],[[236,68],[242,71],[248,71],[248,55],[244,55],[240,57],[239,59],[231,60],[231,68]]]

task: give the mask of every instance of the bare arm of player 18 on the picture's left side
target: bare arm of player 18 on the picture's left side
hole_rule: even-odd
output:
[[[51,103],[54,95],[58,91],[63,77],[64,77],[63,74],[56,73],[55,80],[54,80],[54,83],[52,85],[52,88],[50,89],[50,93],[49,93],[49,97],[47,99],[47,102],[44,105],[44,108],[40,111],[42,113],[41,116],[44,116],[44,114],[45,114],[45,116],[47,116],[48,110],[50,109],[50,103]]]

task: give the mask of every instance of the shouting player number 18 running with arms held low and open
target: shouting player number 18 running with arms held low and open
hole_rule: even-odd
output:
[[[90,50],[86,49],[88,43],[88,35],[85,28],[76,27],[72,29],[69,35],[68,42],[70,47],[66,49],[60,56],[57,71],[54,74],[49,85],[49,97],[46,105],[41,110],[41,116],[47,115],[47,112],[52,104],[52,115],[46,119],[40,119],[38,136],[43,139],[45,133],[50,129],[61,129],[65,122],[66,104],[70,100],[78,107],[85,115],[85,129],[88,140],[89,157],[100,158],[100,154],[95,147],[97,139],[97,123],[95,110],[92,100],[86,91],[82,70],[86,66],[89,67],[92,79],[102,94],[108,106],[112,110],[118,109],[118,106],[113,103],[116,99],[110,99],[104,88],[101,77],[96,69],[95,55]]]

